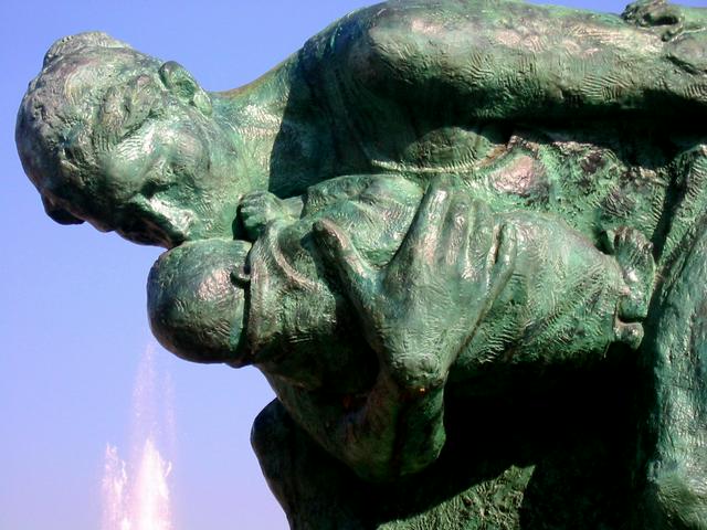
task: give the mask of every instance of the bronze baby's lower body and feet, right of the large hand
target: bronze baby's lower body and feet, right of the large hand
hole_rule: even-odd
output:
[[[561,363],[581,370],[612,343],[641,344],[655,271],[643,234],[606,234],[605,254],[556,218],[499,216],[518,241],[513,277],[452,367],[452,381],[494,393],[506,388],[504,371]]]

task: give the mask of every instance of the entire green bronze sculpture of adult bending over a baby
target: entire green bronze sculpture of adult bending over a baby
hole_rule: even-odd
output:
[[[265,374],[293,528],[707,529],[706,118],[705,9],[391,0],[222,93],[62,39],[17,142]]]

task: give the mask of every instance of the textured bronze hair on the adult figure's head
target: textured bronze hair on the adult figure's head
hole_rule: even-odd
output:
[[[81,198],[92,194],[102,88],[130,66],[155,61],[101,32],[65,36],[46,52],[20,105],[15,139],[24,171],[55,221],[82,222]]]

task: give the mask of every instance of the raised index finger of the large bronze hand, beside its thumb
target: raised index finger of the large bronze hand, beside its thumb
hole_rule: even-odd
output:
[[[432,181],[395,256],[398,266],[426,263],[432,265],[441,242],[445,216],[452,200],[446,179]]]

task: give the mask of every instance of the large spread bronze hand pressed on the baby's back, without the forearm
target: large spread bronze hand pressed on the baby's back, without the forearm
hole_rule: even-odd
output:
[[[315,223],[314,233],[381,369],[415,392],[444,383],[516,255],[513,229],[449,182],[430,186],[402,245],[380,271],[331,221]]]

